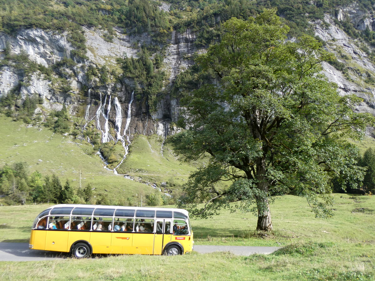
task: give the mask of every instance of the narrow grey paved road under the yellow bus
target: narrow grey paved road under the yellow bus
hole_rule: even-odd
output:
[[[281,247],[251,247],[251,246],[210,246],[194,245],[194,251],[198,253],[231,252],[239,256],[252,254],[270,254]],[[68,253],[30,250],[28,243],[0,243],[0,262],[26,262],[38,260],[55,260],[69,257]]]

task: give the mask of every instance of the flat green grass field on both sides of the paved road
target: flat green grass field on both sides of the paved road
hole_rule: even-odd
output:
[[[3,280],[374,280],[375,197],[334,194],[335,216],[314,218],[306,201],[283,196],[271,205],[274,231],[254,231],[251,214],[223,211],[192,219],[196,244],[284,248],[271,255],[98,256],[2,262]],[[1,206],[0,241],[27,241],[34,217],[48,205]],[[17,220],[14,218],[17,217]],[[3,272],[3,273],[1,273]]]

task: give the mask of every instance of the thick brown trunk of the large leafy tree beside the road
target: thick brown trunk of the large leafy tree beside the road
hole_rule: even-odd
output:
[[[257,159],[257,187],[266,195],[256,196],[258,208],[258,223],[257,230],[270,231],[272,230],[270,204],[268,202],[268,181],[266,178],[266,159],[259,157]]]

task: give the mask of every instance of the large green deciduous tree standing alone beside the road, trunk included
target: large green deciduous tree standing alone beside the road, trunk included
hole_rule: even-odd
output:
[[[221,42],[196,59],[217,82],[181,100],[186,130],[175,137],[177,153],[205,164],[184,185],[180,206],[201,217],[252,210],[257,230],[268,231],[271,196],[291,193],[306,197],[317,217],[330,216],[331,179],[345,188],[363,178],[347,139],[361,139],[373,117],[354,112],[360,99],[339,96],[321,74],[333,55],[307,35],[287,40],[275,10],[224,27]]]

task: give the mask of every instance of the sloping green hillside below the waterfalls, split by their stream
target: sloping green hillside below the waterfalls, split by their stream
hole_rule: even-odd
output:
[[[87,142],[72,140],[70,136],[54,134],[44,127],[27,127],[20,121],[0,115],[0,166],[26,161],[30,172],[37,170],[43,175],[55,173],[62,182],[72,181],[72,186],[91,183],[95,193],[105,193],[108,197],[134,197],[143,192],[153,191],[150,185],[125,179],[103,168],[98,155],[87,155],[90,150]],[[149,141],[148,141],[149,139]],[[161,139],[157,136],[136,137],[130,146],[128,158],[118,172],[128,173],[141,178],[143,182],[171,182],[180,184],[194,169],[191,165],[180,165],[172,156],[168,147],[164,148],[164,157],[160,154]],[[171,188],[173,189],[173,185]],[[108,190],[104,191],[104,190]]]

